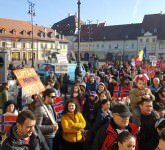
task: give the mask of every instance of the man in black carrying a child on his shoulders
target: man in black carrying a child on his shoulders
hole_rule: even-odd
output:
[[[158,134],[155,123],[159,119],[158,113],[153,110],[153,100],[142,98],[138,107],[132,109],[132,122],[140,126],[138,134],[140,150],[154,150],[158,144]]]

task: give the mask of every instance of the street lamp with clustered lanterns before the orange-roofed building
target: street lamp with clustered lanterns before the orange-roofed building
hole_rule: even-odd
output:
[[[29,11],[28,14],[31,15],[31,24],[32,24],[32,68],[34,68],[34,55],[33,55],[33,16],[35,16],[34,3],[29,2]]]

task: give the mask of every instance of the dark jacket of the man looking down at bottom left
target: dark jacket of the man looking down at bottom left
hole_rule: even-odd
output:
[[[16,133],[16,125],[14,124],[10,131],[8,137],[2,144],[1,150],[49,150],[46,144],[45,138],[42,135],[40,129],[36,126],[30,137],[30,144],[24,143],[24,141],[19,138]]]

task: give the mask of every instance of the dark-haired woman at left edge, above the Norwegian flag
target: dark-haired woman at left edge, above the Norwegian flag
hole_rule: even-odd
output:
[[[3,115],[18,115],[18,110],[14,101],[9,100],[6,102]]]

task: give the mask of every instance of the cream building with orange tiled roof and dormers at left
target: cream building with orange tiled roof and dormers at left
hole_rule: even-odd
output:
[[[39,61],[56,53],[67,55],[68,40],[48,27],[33,25],[32,30],[31,22],[0,18],[0,51],[8,52],[9,61],[28,61],[32,55]]]

